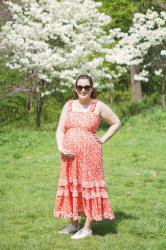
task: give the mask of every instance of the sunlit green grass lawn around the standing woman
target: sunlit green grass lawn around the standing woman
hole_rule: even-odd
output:
[[[116,219],[94,221],[95,237],[79,241],[59,235],[70,220],[52,215],[59,176],[54,124],[1,129],[0,249],[166,249],[165,121],[165,110],[151,109],[130,118],[103,145]]]

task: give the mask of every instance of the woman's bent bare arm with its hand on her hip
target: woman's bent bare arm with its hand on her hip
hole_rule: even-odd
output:
[[[121,127],[121,122],[117,115],[101,101],[99,103],[99,111],[101,118],[110,125],[107,132],[100,138],[100,142],[103,144],[117,132]]]

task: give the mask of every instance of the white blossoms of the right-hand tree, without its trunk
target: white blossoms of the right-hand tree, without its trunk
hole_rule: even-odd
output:
[[[110,31],[111,33],[113,32]],[[113,37],[114,39],[118,39],[116,33],[113,33]],[[158,13],[148,10],[146,14],[135,13],[133,25],[127,33],[123,33],[121,39],[118,39],[115,47],[110,49],[109,54],[106,55],[106,60],[121,67],[140,66],[143,65],[144,58],[150,48],[165,43],[166,12],[162,11]],[[166,55],[165,50],[161,50],[160,55]],[[145,75],[145,72],[142,71],[140,74],[135,75],[135,80],[148,81],[148,75]]]

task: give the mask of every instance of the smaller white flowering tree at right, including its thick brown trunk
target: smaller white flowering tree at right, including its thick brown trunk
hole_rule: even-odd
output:
[[[110,32],[112,33],[112,30]],[[148,81],[148,67],[151,60],[155,61],[155,54],[153,54],[154,58],[149,55],[150,50],[157,47],[158,55],[163,57],[165,55],[166,12],[148,10],[146,14],[135,13],[129,31],[121,33],[120,39],[116,38],[118,43],[106,56],[107,61],[130,70],[132,97],[134,101],[140,101],[142,99],[141,81]],[[145,60],[147,56],[150,61]],[[163,59],[161,61],[163,62]],[[164,69],[164,63],[161,67]],[[156,65],[157,69],[158,65]]]

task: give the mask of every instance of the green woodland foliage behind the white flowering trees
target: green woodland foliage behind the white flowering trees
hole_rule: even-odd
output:
[[[20,2],[20,1],[13,1]],[[164,6],[164,1],[142,1],[142,0],[102,0],[103,3],[100,10],[108,15],[111,15],[110,28],[120,27],[123,31],[127,31],[132,23],[132,16],[134,12],[146,12],[148,8],[161,10]],[[2,2],[3,3],[3,2]],[[1,17],[0,27],[10,18],[10,13],[6,10],[1,3]],[[11,71],[5,66],[6,58],[2,55],[0,58],[0,122],[3,125],[10,124],[11,122],[17,124],[25,124],[28,122],[33,126],[35,123],[35,103],[31,112],[27,108],[27,92],[17,91],[26,89],[26,81],[24,75]],[[112,66],[110,66],[112,67]],[[111,105],[117,111],[122,120],[125,120],[130,115],[139,113],[140,111],[149,108],[153,105],[160,104],[159,88],[157,87],[157,79],[151,79],[148,83],[142,83],[144,98],[140,104],[131,102],[130,93],[130,78],[129,75],[123,75],[114,82],[114,88],[111,90],[111,103],[110,91],[102,90],[99,92],[98,98]],[[49,123],[57,120],[60,114],[62,105],[68,98],[72,98],[74,94],[73,89],[67,93],[61,94],[58,92],[53,93],[49,97],[45,97],[45,103],[42,111],[42,122]]]

